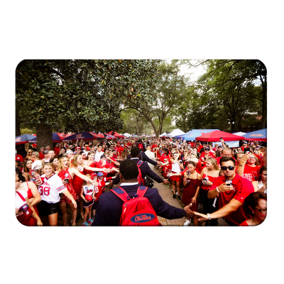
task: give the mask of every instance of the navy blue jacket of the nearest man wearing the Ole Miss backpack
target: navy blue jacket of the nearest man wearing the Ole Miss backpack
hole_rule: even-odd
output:
[[[129,197],[134,197],[140,185],[124,185],[123,189]],[[173,207],[164,202],[156,188],[148,188],[144,197],[147,197],[155,210],[155,213],[166,219],[179,219],[185,217],[185,210]],[[116,228],[119,229],[119,220],[124,202],[113,192],[105,192],[99,196],[99,204],[96,209],[96,217],[92,223],[92,229]]]

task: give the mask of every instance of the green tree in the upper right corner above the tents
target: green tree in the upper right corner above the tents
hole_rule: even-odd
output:
[[[262,127],[266,127],[267,97],[266,87],[269,73],[264,60],[206,60],[207,72],[200,77],[198,86],[204,93],[210,89],[219,94],[224,104],[227,119],[236,121],[240,115],[251,109],[258,109],[262,116]],[[256,80],[260,88],[255,88]],[[244,105],[246,103],[246,105]],[[232,124],[231,124],[232,125]],[[231,130],[234,130],[232,125]]]

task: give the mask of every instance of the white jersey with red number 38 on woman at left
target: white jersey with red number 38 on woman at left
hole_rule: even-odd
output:
[[[38,186],[38,192],[40,192],[41,200],[48,203],[57,203],[60,201],[60,193],[65,192],[67,188],[63,185],[61,178],[55,173],[49,178],[45,175],[40,175],[42,184]]]

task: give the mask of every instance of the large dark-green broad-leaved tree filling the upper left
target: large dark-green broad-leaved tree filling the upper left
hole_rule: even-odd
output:
[[[52,131],[122,128],[123,99],[153,102],[153,60],[19,60],[16,107],[19,122],[35,126],[38,146],[52,146]]]

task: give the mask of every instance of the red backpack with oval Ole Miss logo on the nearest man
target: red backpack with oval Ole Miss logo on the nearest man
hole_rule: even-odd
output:
[[[121,187],[111,190],[124,201],[119,222],[121,229],[162,229],[152,204],[148,198],[143,197],[147,189],[144,186],[138,187],[133,198]]]

